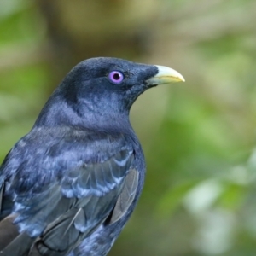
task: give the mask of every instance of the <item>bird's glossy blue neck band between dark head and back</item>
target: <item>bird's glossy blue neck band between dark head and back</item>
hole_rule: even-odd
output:
[[[74,126],[98,131],[133,131],[129,110],[106,101],[86,101],[70,104],[52,96],[45,104],[34,127]]]

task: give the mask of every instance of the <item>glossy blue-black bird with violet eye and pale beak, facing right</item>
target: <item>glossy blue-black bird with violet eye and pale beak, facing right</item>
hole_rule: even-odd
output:
[[[81,61],[0,166],[0,256],[105,256],[145,177],[129,113],[145,90],[184,81],[170,67]]]

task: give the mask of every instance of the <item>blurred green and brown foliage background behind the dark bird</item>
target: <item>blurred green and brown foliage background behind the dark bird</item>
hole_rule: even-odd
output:
[[[131,110],[148,172],[109,255],[255,256],[255,10],[253,0],[2,0],[0,159],[77,62],[175,68],[186,83],[148,90]]]

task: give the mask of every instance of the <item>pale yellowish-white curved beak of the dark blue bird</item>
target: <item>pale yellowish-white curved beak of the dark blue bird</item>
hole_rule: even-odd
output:
[[[157,67],[158,73],[154,77],[147,80],[149,86],[185,81],[180,73],[170,67],[157,65],[154,65],[154,67]]]

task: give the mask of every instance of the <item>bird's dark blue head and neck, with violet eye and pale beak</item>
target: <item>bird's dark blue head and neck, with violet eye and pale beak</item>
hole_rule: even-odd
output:
[[[169,67],[107,57],[88,59],[67,74],[36,124],[53,125],[55,120],[58,125],[102,126],[108,120],[117,125],[120,118],[128,118],[131,105],[145,90],[179,81],[184,81],[183,76]]]

